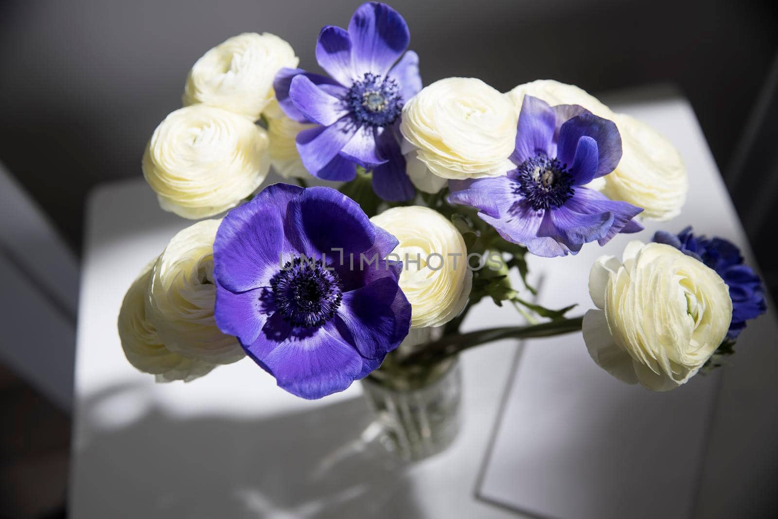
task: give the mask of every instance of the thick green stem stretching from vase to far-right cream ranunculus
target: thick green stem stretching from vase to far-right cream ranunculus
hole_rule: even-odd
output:
[[[465,349],[487,342],[499,341],[503,338],[538,338],[564,335],[580,331],[584,317],[573,317],[531,326],[506,326],[503,328],[488,328],[471,331],[465,334],[444,335],[435,342],[430,342],[425,348],[401,359],[402,366],[412,364],[431,364],[440,362],[448,356],[457,355]]]

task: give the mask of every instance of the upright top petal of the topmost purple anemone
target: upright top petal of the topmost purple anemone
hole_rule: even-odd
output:
[[[411,40],[408,24],[389,5],[366,2],[354,12],[349,23],[352,64],[358,77],[367,72],[387,75]]]

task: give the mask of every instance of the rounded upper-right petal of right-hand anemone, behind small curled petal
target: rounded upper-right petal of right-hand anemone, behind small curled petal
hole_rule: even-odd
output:
[[[591,137],[598,148],[597,171],[594,177],[602,177],[612,172],[622,158],[622,139],[614,122],[592,114],[576,115],[565,121],[559,128],[557,158],[562,163],[573,164],[580,139],[583,137]],[[584,175],[576,177],[576,185],[590,181],[591,178]]]

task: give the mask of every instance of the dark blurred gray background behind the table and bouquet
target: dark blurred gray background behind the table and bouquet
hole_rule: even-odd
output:
[[[0,163],[77,256],[90,188],[141,175],[145,142],[180,106],[200,55],[234,34],[268,31],[293,45],[301,67],[316,69],[321,26],[345,26],[359,3],[0,0]],[[778,286],[769,240],[778,217],[776,2],[391,4],[408,21],[426,84],[464,75],[507,90],[559,79],[606,100],[644,86],[678,89],[696,110],[769,284]],[[60,513],[67,430],[66,410],[49,409],[0,366],[0,518]],[[43,481],[40,474],[48,490],[28,496],[21,489]]]

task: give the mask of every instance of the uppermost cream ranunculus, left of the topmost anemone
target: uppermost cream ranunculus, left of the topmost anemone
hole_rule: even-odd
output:
[[[256,121],[274,99],[276,73],[299,62],[292,46],[275,34],[233,36],[195,62],[184,88],[184,106],[208,104]]]

